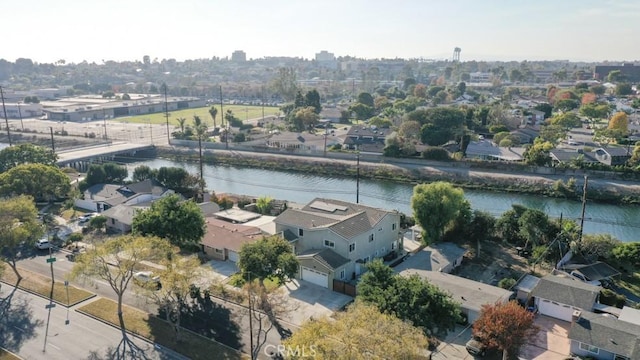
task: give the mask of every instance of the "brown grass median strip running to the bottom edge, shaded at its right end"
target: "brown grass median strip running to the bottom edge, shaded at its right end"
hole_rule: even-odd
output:
[[[79,311],[100,318],[116,327],[118,325],[117,304],[109,299],[98,299],[81,308]],[[173,327],[143,311],[125,306],[125,325],[127,330],[147,338],[164,347],[173,349],[191,359],[246,359],[239,351],[228,348],[218,342],[183,330],[182,341],[175,340]]]

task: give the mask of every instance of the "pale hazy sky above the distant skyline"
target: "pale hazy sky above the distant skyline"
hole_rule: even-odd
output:
[[[640,60],[638,0],[6,0],[0,58]]]

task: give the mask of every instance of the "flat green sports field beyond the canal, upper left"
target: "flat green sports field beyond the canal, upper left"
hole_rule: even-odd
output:
[[[218,109],[218,115],[216,116],[216,124],[220,126],[220,122],[222,121],[222,113],[220,112],[220,104],[215,105]],[[193,116],[197,115],[202,119],[202,121],[208,126],[213,126],[213,119],[209,114],[209,109],[211,107],[202,107],[202,108],[194,108],[194,109],[184,109],[179,111],[171,111],[169,112],[169,124],[173,126],[178,125],[178,118],[187,119],[187,124],[191,124],[193,121]],[[245,106],[245,105],[224,105],[224,112],[227,110],[231,110],[235,117],[238,119],[245,121],[247,119],[256,119],[262,117],[262,107],[261,106]],[[276,115],[280,112],[280,109],[277,107],[264,107],[264,116]],[[166,124],[166,118],[164,113],[155,113],[155,114],[146,114],[146,115],[138,115],[138,116],[130,116],[130,117],[121,117],[115,118],[112,121],[125,122],[125,123],[137,123],[137,124],[148,124],[151,122],[152,124]]]

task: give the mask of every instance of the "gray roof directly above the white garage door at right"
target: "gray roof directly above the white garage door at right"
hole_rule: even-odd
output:
[[[531,295],[589,311],[593,308],[599,293],[598,286],[570,278],[547,275],[538,281]]]

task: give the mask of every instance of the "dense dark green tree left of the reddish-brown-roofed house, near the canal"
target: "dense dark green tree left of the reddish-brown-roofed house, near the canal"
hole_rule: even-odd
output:
[[[182,201],[175,194],[136,213],[131,227],[134,234],[157,236],[181,248],[198,247],[205,232],[204,217],[198,205],[193,201]]]

